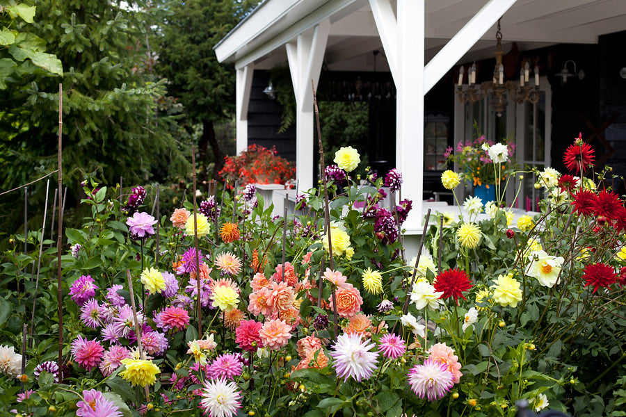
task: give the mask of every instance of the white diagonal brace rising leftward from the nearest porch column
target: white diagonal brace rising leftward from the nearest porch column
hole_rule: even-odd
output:
[[[422,3],[422,1],[420,0],[419,3]],[[390,0],[369,0],[369,6],[371,7],[372,15],[374,15],[374,22],[376,22],[380,41],[383,42],[383,49],[385,50],[385,56],[387,56],[387,63],[389,64],[392,76],[394,80],[398,80],[399,35],[396,15],[394,15]],[[424,14],[423,11],[422,14]],[[423,42],[424,36],[422,34],[422,43]],[[397,81],[396,87],[400,89]]]

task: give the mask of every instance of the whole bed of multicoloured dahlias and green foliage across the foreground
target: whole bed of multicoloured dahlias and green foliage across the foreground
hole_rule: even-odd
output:
[[[504,163],[497,145],[483,150]],[[0,304],[15,413],[0,416],[513,416],[520,399],[610,415],[626,384],[626,208],[606,173],[576,177],[595,159],[572,146],[572,172],[536,172],[541,213],[515,222],[468,199],[469,218],[431,216],[413,259],[401,172],[360,177],[353,148],[326,169],[328,224],[321,188],[282,219],[250,183],[159,212],[150,188],[86,181],[93,215],[64,237],[60,363],[56,252],[24,352],[31,256],[2,264],[17,281]]]

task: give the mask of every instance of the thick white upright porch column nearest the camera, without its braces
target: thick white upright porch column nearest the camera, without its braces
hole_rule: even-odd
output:
[[[404,223],[408,234],[422,233],[424,188],[424,1],[398,0],[396,81],[396,167],[402,172],[402,197],[413,209]]]

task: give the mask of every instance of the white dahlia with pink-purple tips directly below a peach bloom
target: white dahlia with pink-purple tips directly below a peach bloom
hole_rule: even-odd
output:
[[[419,398],[426,397],[428,401],[435,401],[444,398],[450,391],[454,385],[454,375],[444,363],[426,359],[423,365],[411,368],[408,382]]]

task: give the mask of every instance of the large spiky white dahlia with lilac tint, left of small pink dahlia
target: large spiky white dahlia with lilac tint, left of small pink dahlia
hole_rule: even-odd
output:
[[[369,379],[378,363],[378,352],[371,352],[373,347],[376,345],[371,343],[371,339],[361,341],[358,334],[339,336],[330,352],[332,359],[335,359],[332,367],[337,371],[337,377],[344,378],[344,382],[349,377],[359,382],[361,379]]]

